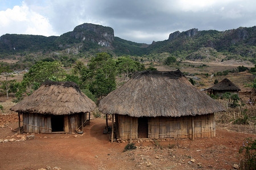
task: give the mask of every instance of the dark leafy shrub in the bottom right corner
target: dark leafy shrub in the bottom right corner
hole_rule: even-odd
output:
[[[256,167],[256,139],[247,138],[240,147],[240,154],[243,158],[240,160],[240,169],[255,169]]]

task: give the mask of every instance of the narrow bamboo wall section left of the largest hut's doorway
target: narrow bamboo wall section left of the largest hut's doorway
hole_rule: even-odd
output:
[[[131,121],[132,123],[131,123]],[[131,130],[131,138],[138,138],[138,118],[124,115],[118,115],[118,138],[120,139],[130,139],[130,128]],[[132,124],[132,125],[131,125]],[[131,127],[131,126],[132,127]]]

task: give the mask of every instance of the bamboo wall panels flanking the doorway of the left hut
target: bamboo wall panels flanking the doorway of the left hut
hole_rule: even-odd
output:
[[[82,121],[86,113],[69,114],[64,116],[64,132],[82,130]],[[23,113],[23,130],[27,133],[52,133],[51,115]]]

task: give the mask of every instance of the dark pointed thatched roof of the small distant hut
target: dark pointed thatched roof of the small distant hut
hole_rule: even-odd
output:
[[[240,91],[241,89],[232,83],[229,79],[224,79],[221,82],[209,87],[205,90],[217,90],[217,91]]]

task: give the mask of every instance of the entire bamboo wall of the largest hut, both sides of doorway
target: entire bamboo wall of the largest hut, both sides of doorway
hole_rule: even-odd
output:
[[[131,121],[132,120],[132,124]],[[192,130],[193,121],[193,130]],[[120,139],[138,139],[138,118],[118,115],[118,135]],[[148,138],[194,138],[215,137],[214,114],[182,117],[148,117]]]

